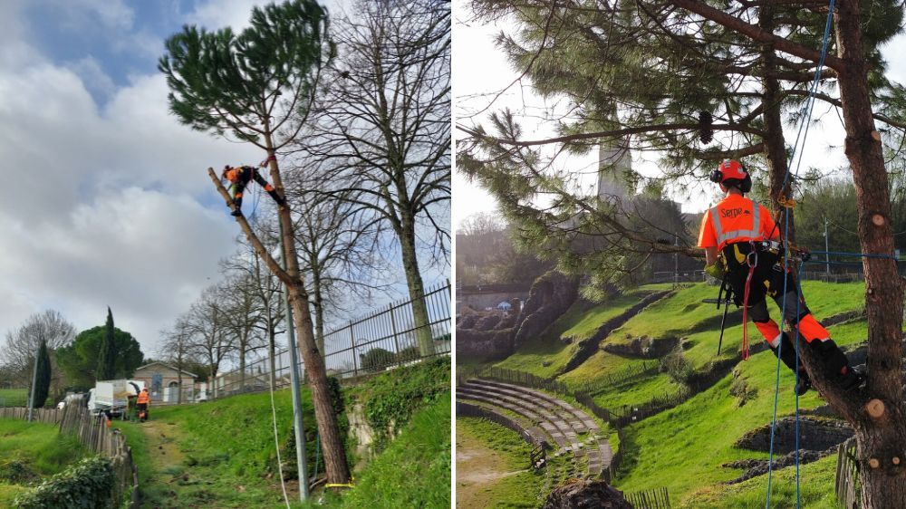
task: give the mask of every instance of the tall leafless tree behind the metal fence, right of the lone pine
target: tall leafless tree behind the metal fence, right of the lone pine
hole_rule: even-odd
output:
[[[450,11],[448,3],[365,2],[335,24],[339,57],[297,143],[306,164],[344,181],[396,234],[419,327],[434,351],[418,247],[448,263]],[[423,238],[422,235],[427,235]]]

